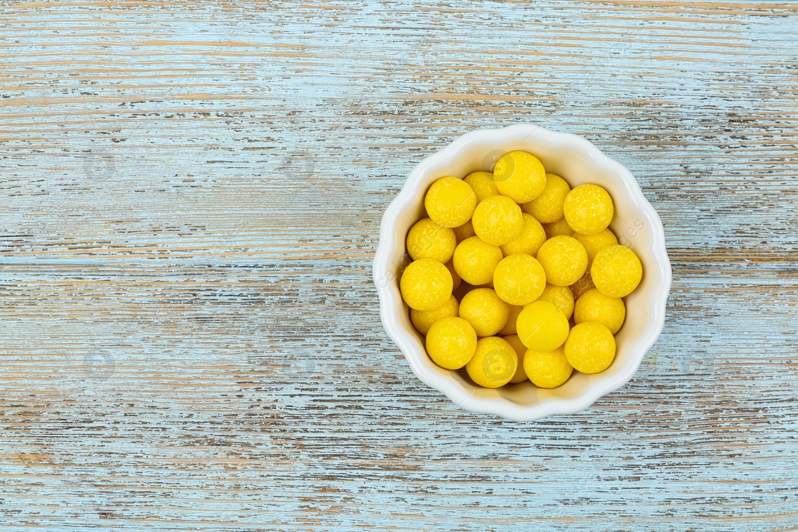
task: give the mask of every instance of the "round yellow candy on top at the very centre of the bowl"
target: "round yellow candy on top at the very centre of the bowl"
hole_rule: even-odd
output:
[[[508,255],[493,271],[493,286],[496,294],[510,305],[527,305],[543,294],[546,272],[531,255]]]

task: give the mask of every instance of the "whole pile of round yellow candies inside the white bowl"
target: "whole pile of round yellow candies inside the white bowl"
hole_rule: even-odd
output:
[[[607,228],[602,187],[571,190],[535,156],[509,152],[493,172],[438,179],[424,206],[399,284],[437,365],[465,366],[486,388],[555,388],[574,369],[609,367],[642,265]]]

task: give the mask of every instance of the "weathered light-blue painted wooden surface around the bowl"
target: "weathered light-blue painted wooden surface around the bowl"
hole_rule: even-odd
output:
[[[798,529],[798,4],[0,2],[0,528]],[[586,136],[662,337],[517,424],[413,377],[370,262],[472,128]]]

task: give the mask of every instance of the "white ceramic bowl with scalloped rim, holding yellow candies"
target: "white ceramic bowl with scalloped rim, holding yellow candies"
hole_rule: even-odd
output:
[[[529,380],[482,388],[472,383],[465,368],[448,370],[435,365],[425,352],[424,337],[410,323],[409,309],[399,292],[401,270],[411,260],[405,237],[413,223],[426,216],[424,196],[429,186],[445,175],[462,178],[472,171],[490,171],[500,156],[513,150],[537,156],[546,171],[562,176],[571,187],[584,183],[604,187],[615,205],[610,229],[643,264],[642,282],[624,298],[626,321],[615,337],[618,350],[612,365],[595,375],[574,372],[565,384],[551,390],[537,388]],[[382,216],[373,278],[382,325],[422,382],[471,412],[531,421],[579,412],[632,378],[662,331],[671,271],[662,222],[630,171],[580,136],[516,124],[468,132],[413,168]]]

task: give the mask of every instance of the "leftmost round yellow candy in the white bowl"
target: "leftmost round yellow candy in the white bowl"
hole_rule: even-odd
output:
[[[410,262],[399,281],[402,299],[416,310],[437,309],[452,295],[452,286],[452,274],[432,258]]]

